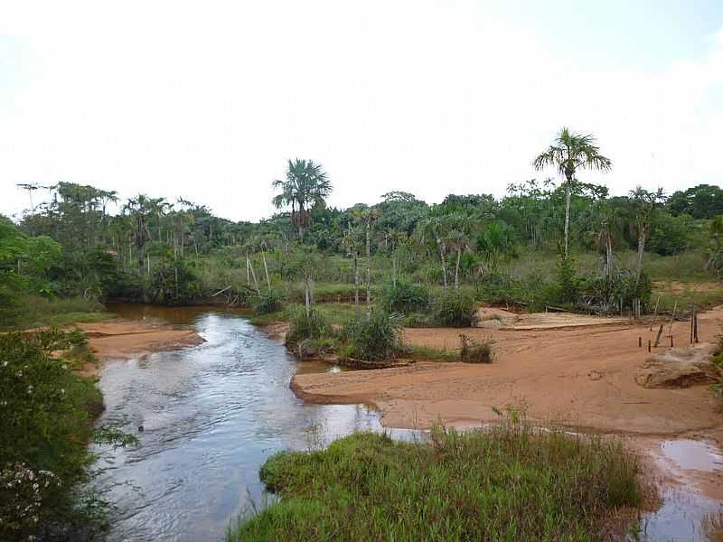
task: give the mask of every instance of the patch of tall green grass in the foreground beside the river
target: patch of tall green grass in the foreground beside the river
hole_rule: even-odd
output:
[[[281,500],[226,540],[596,540],[640,506],[637,473],[617,441],[522,423],[437,427],[428,443],[358,433],[269,458],[261,480]]]

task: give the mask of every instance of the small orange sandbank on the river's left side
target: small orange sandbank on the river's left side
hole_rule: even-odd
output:
[[[99,361],[127,360],[163,350],[180,350],[203,342],[196,332],[179,330],[161,322],[116,319],[109,322],[79,323],[88,337],[90,350]],[[97,377],[99,365],[86,364],[82,372]]]

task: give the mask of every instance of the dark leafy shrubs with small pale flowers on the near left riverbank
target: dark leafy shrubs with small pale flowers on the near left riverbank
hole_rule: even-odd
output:
[[[86,445],[128,441],[94,432],[99,390],[52,355],[83,347],[80,332],[0,335],[0,539],[69,539],[99,524],[99,502],[75,491],[91,461]]]

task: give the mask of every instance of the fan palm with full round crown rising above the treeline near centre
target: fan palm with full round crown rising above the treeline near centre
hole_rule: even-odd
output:
[[[324,198],[332,193],[332,183],[321,164],[296,158],[293,162],[288,161],[286,180],[277,179],[272,185],[281,189],[272,200],[274,205],[277,208],[291,205],[291,221],[299,229],[299,240],[303,240],[304,229],[311,222],[310,207],[324,205]]]

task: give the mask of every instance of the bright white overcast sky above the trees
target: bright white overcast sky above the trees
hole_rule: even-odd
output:
[[[612,193],[720,184],[723,2],[0,0],[8,216],[66,181],[259,220],[296,157],[336,207],[500,197],[561,126]]]

